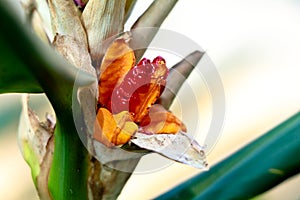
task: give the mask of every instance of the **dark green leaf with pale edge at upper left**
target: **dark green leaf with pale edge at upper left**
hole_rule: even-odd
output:
[[[0,92],[44,91],[48,96],[60,96],[58,102],[64,101],[65,91],[72,91],[78,69],[23,24],[10,4],[0,1]],[[95,80],[89,75],[81,77],[83,85]]]

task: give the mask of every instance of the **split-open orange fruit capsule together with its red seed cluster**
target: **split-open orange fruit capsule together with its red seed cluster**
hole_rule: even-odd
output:
[[[158,56],[135,65],[133,50],[124,39],[115,40],[100,66],[97,121],[94,138],[107,146],[127,143],[144,134],[176,134],[185,125],[161,105],[168,68]]]

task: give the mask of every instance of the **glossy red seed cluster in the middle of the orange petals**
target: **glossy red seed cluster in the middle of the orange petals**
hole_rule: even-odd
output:
[[[139,111],[137,109],[145,109],[155,103],[166,84],[168,69],[165,63],[158,56],[152,62],[143,58],[134,66],[112,93],[112,113],[127,110],[135,115]]]

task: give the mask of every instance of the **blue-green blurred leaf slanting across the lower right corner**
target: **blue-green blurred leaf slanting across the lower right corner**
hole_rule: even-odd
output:
[[[300,173],[300,112],[224,161],[157,197],[249,199]]]

